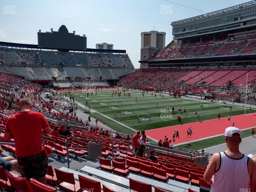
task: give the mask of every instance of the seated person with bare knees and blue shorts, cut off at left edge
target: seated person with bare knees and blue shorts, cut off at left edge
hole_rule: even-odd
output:
[[[3,149],[0,145],[0,154],[2,154]],[[20,173],[20,168],[18,166],[17,160],[14,157],[1,157],[0,156],[0,166],[4,168],[4,170],[13,171],[16,170]]]

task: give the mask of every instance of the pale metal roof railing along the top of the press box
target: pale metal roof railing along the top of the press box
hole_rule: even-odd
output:
[[[174,21],[174,22],[171,23],[171,25],[178,24],[178,23],[183,23],[183,22],[187,22],[187,21],[191,21],[191,20],[196,20],[196,19],[200,19],[200,18],[205,18],[205,17],[216,15],[216,14],[219,14],[219,13],[224,13],[224,12],[227,12],[227,11],[239,9],[239,8],[246,7],[246,6],[250,6],[252,4],[256,4],[256,0],[252,0],[252,1],[249,1],[249,2],[246,2],[246,3],[231,6],[231,7],[228,7],[228,8],[224,8],[224,9],[217,10],[217,11],[214,11],[214,12],[210,12],[210,13],[206,13],[206,14],[202,14],[202,15],[198,15],[198,16],[194,16],[194,17],[190,17],[190,18],[186,18],[186,19],[182,19],[182,20],[178,20],[178,21]]]

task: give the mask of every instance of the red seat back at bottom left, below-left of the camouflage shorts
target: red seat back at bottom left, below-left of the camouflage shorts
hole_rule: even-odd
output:
[[[17,192],[32,192],[32,189],[26,178],[16,178],[10,174],[8,170],[4,171],[8,177],[12,188],[16,189]]]

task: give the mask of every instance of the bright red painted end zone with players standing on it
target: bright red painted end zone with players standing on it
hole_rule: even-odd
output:
[[[248,115],[248,114],[247,114]],[[168,139],[173,140],[172,134],[174,131],[179,131],[180,140],[178,141],[178,138],[173,144],[179,144],[183,142],[190,142],[193,140],[198,140],[206,137],[211,137],[219,134],[224,134],[225,129],[227,127],[232,126],[232,122],[234,121],[235,127],[239,129],[245,129],[255,126],[255,115],[237,115],[237,116],[231,116],[230,122],[228,122],[228,117],[220,118],[220,121],[218,119],[213,120],[206,120],[202,122],[194,122],[194,123],[188,123],[188,124],[180,124],[175,126],[169,126],[169,127],[163,127],[163,128],[157,128],[152,130],[146,130],[146,135],[156,139],[164,139],[164,136],[166,135]],[[187,130],[189,127],[192,127],[192,136],[188,136],[187,138]],[[224,142],[224,141],[223,141]]]

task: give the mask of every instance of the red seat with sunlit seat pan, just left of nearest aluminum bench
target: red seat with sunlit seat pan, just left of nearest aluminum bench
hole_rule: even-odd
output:
[[[58,179],[58,185],[60,189],[67,192],[78,192],[80,191],[79,182],[74,179],[74,174],[54,169],[56,177]]]

